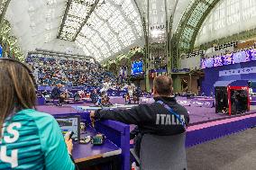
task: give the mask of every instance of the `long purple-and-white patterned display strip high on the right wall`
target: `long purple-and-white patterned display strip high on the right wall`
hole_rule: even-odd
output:
[[[203,58],[201,59],[201,68],[204,69],[206,67],[220,67],[248,61],[255,61],[255,53],[256,49],[247,49],[231,54],[226,54],[224,56]]]

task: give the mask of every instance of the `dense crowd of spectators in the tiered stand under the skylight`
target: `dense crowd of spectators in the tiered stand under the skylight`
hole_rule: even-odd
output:
[[[121,86],[118,78],[106,72],[96,63],[79,59],[40,58],[30,56],[26,62],[32,67],[38,85],[96,86],[110,82],[116,88]]]

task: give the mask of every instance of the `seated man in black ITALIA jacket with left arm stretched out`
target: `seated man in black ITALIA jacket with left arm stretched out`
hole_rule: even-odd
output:
[[[171,97],[172,79],[169,76],[158,76],[155,78],[153,94],[155,103],[140,104],[130,110],[97,110],[96,112],[91,112],[90,117],[92,121],[109,119],[137,125],[132,134],[135,132],[134,149],[139,156],[143,134],[176,135],[186,130],[178,118],[170,114],[158,101],[167,104],[180,116],[183,122],[185,121],[186,124],[189,122],[187,109],[179,105],[174,97]]]

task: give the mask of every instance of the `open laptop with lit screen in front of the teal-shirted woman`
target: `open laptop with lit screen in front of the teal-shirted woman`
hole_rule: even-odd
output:
[[[65,136],[69,131],[73,131],[73,140],[80,140],[80,116],[56,116],[55,120],[59,123],[59,128]]]

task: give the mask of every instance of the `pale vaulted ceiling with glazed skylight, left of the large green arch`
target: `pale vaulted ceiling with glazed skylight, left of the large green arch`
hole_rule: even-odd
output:
[[[2,3],[6,1],[10,0],[2,0]],[[187,8],[187,1],[194,0],[176,1],[178,7],[173,32]],[[149,0],[151,38],[165,40],[165,20],[169,19],[165,16],[166,11],[172,13],[176,1]],[[86,54],[100,61],[144,45],[142,17],[147,18],[147,2],[148,0],[11,0],[5,18],[11,23],[23,53],[35,49],[59,52],[73,49],[74,54]],[[164,8],[165,2],[167,9]],[[145,21],[148,22],[147,19]]]

